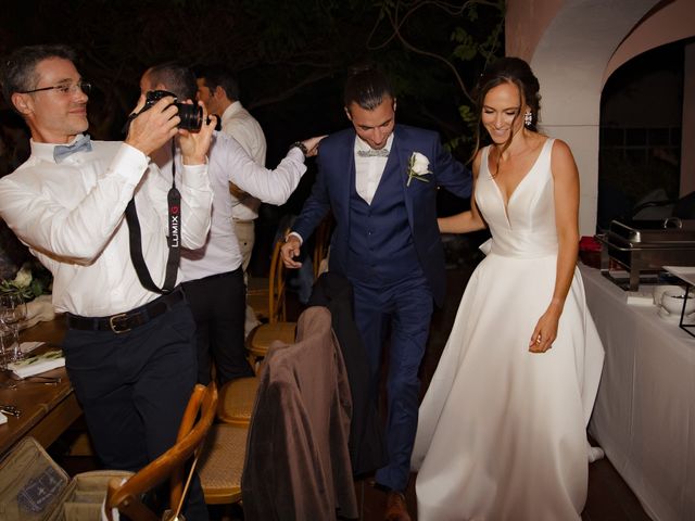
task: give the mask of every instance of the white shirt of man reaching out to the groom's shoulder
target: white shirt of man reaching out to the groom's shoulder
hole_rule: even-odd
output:
[[[167,179],[172,175],[170,150],[170,147],[164,147],[152,157]],[[184,280],[225,274],[241,266],[242,256],[231,221],[233,203],[229,198],[229,181],[257,195],[263,202],[283,204],[306,171],[304,154],[296,147],[288,152],[275,170],[269,170],[258,166],[235,139],[222,132],[215,132],[207,156],[213,189],[212,224],[203,247],[181,252]],[[178,185],[180,154],[176,154],[176,160]]]

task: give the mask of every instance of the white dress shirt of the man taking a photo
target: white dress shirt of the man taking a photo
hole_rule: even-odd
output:
[[[100,317],[160,296],[138,280],[124,212],[135,191],[143,257],[161,287],[168,255],[170,178],[122,142],[92,141],[91,152],[77,152],[61,163],[53,160],[54,147],[31,141],[29,158],[0,179],[0,216],[53,274],[53,306]],[[200,247],[210,228],[207,166],[181,170],[181,245]]]

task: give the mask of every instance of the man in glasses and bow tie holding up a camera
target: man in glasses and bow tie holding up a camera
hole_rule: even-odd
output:
[[[31,155],[0,180],[0,216],[53,274],[53,305],[67,313],[66,368],[98,456],[105,468],[135,471],[174,445],[195,383],[195,325],[174,287],[167,233],[175,223],[181,245],[205,241],[214,123],[178,129],[166,97],[131,119],[125,142],[90,142],[90,85],[74,61],[63,46],[31,46],[2,62],[3,93],[29,127]],[[170,180],[148,157],[174,137],[180,206],[167,202]],[[134,267],[124,217],[131,200],[144,269],[157,287],[165,281],[164,294],[146,289]],[[197,479],[186,516],[207,519]]]

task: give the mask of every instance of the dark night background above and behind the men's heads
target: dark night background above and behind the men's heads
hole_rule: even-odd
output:
[[[80,73],[94,86],[89,101],[89,132],[97,139],[122,139],[119,129],[137,101],[140,75],[149,66],[172,59],[191,66],[223,63],[235,71],[242,102],[266,134],[269,167],[277,165],[289,143],[349,125],[342,110],[342,84],[348,67],[366,60],[378,62],[392,77],[399,97],[399,122],[439,130],[444,142],[469,135],[459,116],[466,97],[456,77],[442,62],[406,50],[392,38],[392,27],[383,21],[378,23],[379,3],[3,2],[0,54],[21,45],[59,42],[74,47],[80,56]],[[455,56],[460,52],[457,47],[466,41],[484,42],[492,35],[498,49],[503,48],[503,35],[494,33],[501,20],[497,9],[452,14],[433,9],[429,2],[401,29],[409,42],[448,59],[470,88],[485,59],[477,54],[472,60],[460,60]],[[464,147],[455,154],[466,160],[468,149]],[[266,208],[267,215],[258,221],[261,228],[265,219],[268,230],[274,230],[279,215],[299,211],[311,188],[311,174],[285,207]]]

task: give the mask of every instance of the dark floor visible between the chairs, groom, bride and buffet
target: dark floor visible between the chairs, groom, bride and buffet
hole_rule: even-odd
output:
[[[470,255],[465,255],[464,257],[470,258]],[[451,330],[458,308],[460,295],[471,271],[471,266],[460,264],[452,265],[447,269],[447,301],[446,305],[442,309],[435,310],[432,318],[427,354],[421,367],[421,379],[424,383],[422,392],[425,392],[425,389],[429,384],[432,373],[437,368],[439,357],[444,344],[446,343],[448,331]],[[289,298],[290,317],[288,318],[292,319],[292,316],[296,317],[300,308],[296,303],[293,302],[292,295],[290,295]],[[71,474],[93,468],[93,461],[91,461],[91,458],[63,458],[60,462]],[[410,485],[406,491],[406,500],[413,519],[416,520],[414,478],[415,476],[413,475],[410,479]],[[357,500],[361,506],[361,520],[380,521],[383,516],[386,500],[384,494],[371,487],[366,481],[356,482],[355,487]],[[239,507],[233,507],[232,509],[211,507],[211,521],[238,521],[242,519],[243,513]],[[582,513],[582,519],[584,521],[649,520],[635,496],[607,459],[603,459],[590,466],[589,499],[586,501],[584,512]]]

